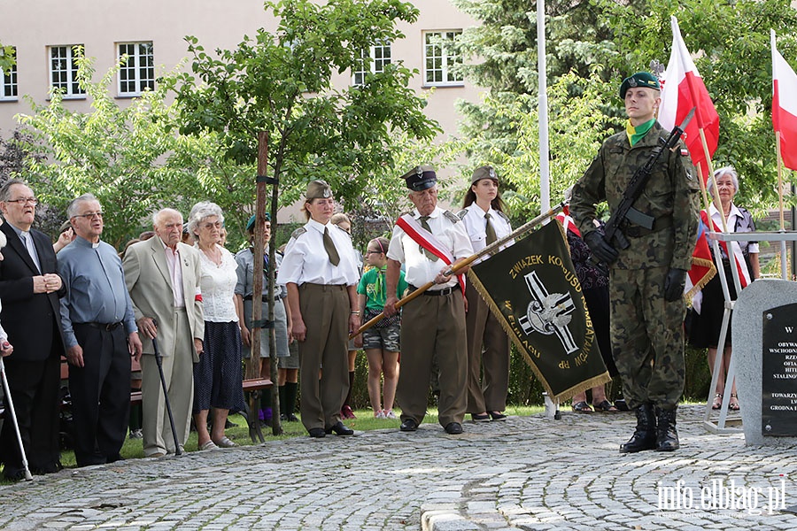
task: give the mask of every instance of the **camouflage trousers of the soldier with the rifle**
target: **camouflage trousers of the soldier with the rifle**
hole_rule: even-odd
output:
[[[631,408],[674,407],[684,393],[683,298],[664,300],[669,267],[612,269],[609,274],[612,355]]]

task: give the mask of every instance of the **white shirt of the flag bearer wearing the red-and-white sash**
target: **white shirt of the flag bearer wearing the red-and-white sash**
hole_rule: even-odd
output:
[[[427,223],[429,223],[431,233],[453,254],[454,260],[468,258],[473,254],[473,247],[470,245],[470,238],[465,230],[465,224],[453,222],[445,217],[444,212],[442,208],[437,206],[434,212],[429,215]],[[421,219],[421,214],[417,209],[413,212],[413,218]],[[440,273],[440,270],[446,267],[445,262],[439,258],[434,261],[429,260],[418,243],[414,242],[398,225],[393,227],[393,235],[391,237],[391,245],[388,247],[387,257],[406,264],[405,279],[416,288],[427,282],[434,281],[437,273]],[[456,283],[457,279],[453,277],[445,284],[437,284],[432,290],[444,289]]]

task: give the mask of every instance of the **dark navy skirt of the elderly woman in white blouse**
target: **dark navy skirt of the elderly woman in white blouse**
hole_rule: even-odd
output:
[[[194,414],[211,407],[244,411],[241,329],[205,321],[205,351],[194,364]]]

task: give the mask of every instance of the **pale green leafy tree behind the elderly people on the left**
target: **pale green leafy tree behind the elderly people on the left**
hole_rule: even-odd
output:
[[[244,172],[215,163],[212,134],[177,133],[174,104],[164,99],[168,83],[120,107],[110,96],[118,66],[92,82],[93,59],[81,55],[77,62],[91,112],[66,109],[54,91],[46,105],[28,98],[33,112],[17,117],[33,133],[26,150],[36,157],[28,158],[27,179],[62,218],[69,201],[93,193],[105,212],[104,240],[119,248],[150,228],[150,214],[163,206],[188,212],[212,198],[233,212],[233,205],[251,199],[240,186]]]

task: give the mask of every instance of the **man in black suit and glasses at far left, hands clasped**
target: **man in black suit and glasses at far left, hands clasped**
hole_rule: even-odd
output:
[[[8,245],[0,262],[0,321],[14,346],[5,371],[19,421],[22,443],[33,473],[58,472],[58,378],[64,342],[58,296],[64,295],[56,273],[50,238],[32,230],[36,197],[23,181],[12,179],[0,189],[0,212]],[[23,477],[22,455],[14,428],[0,433],[4,476]]]

